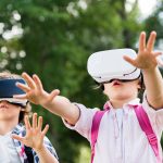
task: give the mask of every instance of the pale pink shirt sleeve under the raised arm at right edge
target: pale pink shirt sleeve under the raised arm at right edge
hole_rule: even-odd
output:
[[[161,109],[154,110],[148,103],[146,92],[143,95],[142,108],[147,112],[153,129],[156,131],[156,134],[161,138],[162,130],[163,130],[163,109],[161,108]]]

